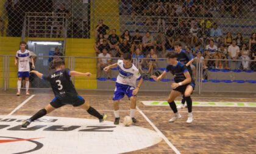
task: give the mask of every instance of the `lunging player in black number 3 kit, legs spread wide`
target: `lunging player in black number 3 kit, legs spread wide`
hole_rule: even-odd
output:
[[[77,72],[70,71],[68,68],[65,68],[65,62],[57,58],[53,61],[56,71],[51,75],[44,75],[38,71],[31,71],[38,77],[43,80],[47,80],[51,83],[52,91],[54,92],[55,98],[49,103],[45,108],[38,111],[34,116],[30,117],[21,125],[26,128],[32,121],[39,119],[40,117],[45,116],[46,114],[51,113],[56,108],[60,108],[63,105],[70,104],[73,107],[80,107],[84,110],[87,110],[89,114],[94,117],[98,117],[99,122],[103,122],[106,118],[106,114],[99,114],[93,107],[90,107],[88,101],[85,101],[83,97],[79,96],[74,85],[70,79],[71,76],[85,76],[90,77],[91,73],[86,72]]]

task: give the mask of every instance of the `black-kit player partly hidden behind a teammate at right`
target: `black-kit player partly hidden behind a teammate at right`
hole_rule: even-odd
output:
[[[190,76],[192,79],[191,85],[193,86],[194,89],[195,83],[193,82],[193,72],[190,66],[191,63],[193,63],[194,59],[186,51],[182,50],[182,44],[180,42],[174,43],[174,49],[175,52],[177,53],[177,61],[180,61],[180,63],[187,66],[188,72],[190,72]],[[185,108],[185,101],[185,96],[182,96],[182,104],[179,105],[177,108]]]

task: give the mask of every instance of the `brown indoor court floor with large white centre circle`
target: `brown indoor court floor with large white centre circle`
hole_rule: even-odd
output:
[[[33,91],[31,96],[17,97],[13,91],[8,91],[1,92],[1,136],[18,135],[24,139],[37,138],[32,141],[43,143],[43,146],[31,153],[255,153],[255,95],[194,94],[194,102],[212,103],[210,107],[194,105],[195,120],[192,124],[186,124],[187,108],[179,110],[182,118],[170,123],[168,119],[172,112],[169,107],[141,103],[152,100],[152,102],[165,101],[168,93],[141,92],[135,114],[138,123],[124,127],[123,124],[113,125],[112,93],[106,91],[79,91],[79,93],[99,112],[106,113],[107,121],[99,124],[98,120],[86,111],[66,105],[47,117],[42,117],[44,120],[34,122],[26,130],[20,127],[21,121],[17,121],[24,120],[26,116],[40,110],[54,95],[51,91],[45,90]],[[214,102],[222,102],[222,107],[214,107]],[[229,107],[233,102],[237,102],[240,107]],[[127,98],[122,100],[119,110],[121,117],[129,115]],[[61,121],[62,117],[79,118],[79,120]],[[54,124],[49,119],[58,120]],[[58,129],[52,128],[53,130],[50,131],[49,127],[54,125],[64,129],[59,128],[57,131]],[[91,128],[95,130],[90,130]],[[145,130],[141,131],[141,128]],[[79,131],[83,129],[88,131]],[[84,136],[83,142],[75,142],[75,145],[69,143],[81,141],[82,136]],[[8,139],[0,138],[1,153],[19,153],[35,148],[35,144],[28,141],[4,142]],[[56,142],[52,138],[55,138],[59,144],[51,145]],[[144,144],[141,144],[143,141]],[[70,147],[68,144],[71,144]],[[73,146],[76,146],[76,150]]]

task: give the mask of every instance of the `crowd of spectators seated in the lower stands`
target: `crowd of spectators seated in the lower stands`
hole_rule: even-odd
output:
[[[101,26],[103,25],[101,23]],[[141,33],[134,30],[131,35],[129,30],[124,30],[121,35],[117,35],[116,29],[110,30],[105,25],[105,28],[102,27],[105,29],[104,33],[96,29],[98,36],[94,49],[96,54],[101,54],[105,50],[110,57],[122,57],[124,53],[129,52],[133,58],[140,59],[141,72],[146,68],[147,73],[152,74],[152,70],[157,67],[157,58],[163,58],[166,52],[174,51],[174,42],[179,41],[183,50],[191,57],[197,60],[205,59],[205,68],[255,69],[255,64],[248,61],[256,59],[255,33],[246,40],[241,33],[224,34],[216,23],[208,29],[202,26],[205,24],[193,23],[187,30],[188,33],[184,33],[178,26],[169,24],[164,32]]]

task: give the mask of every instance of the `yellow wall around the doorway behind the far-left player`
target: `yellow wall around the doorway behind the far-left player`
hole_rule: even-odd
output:
[[[61,38],[27,38],[27,40],[47,40],[47,41],[63,41]],[[19,49],[21,38],[19,37],[0,37],[0,55],[15,55]],[[94,40],[68,38],[66,40],[66,56],[90,56],[96,57],[93,49]],[[10,57],[10,88],[16,88],[17,67],[14,65],[14,58]],[[90,78],[76,77],[74,82],[76,88],[96,89],[96,59],[94,58],[75,58],[75,70],[81,72],[91,72],[93,76]],[[2,58],[0,57],[0,80],[2,79]],[[0,81],[0,88],[2,80]]]

